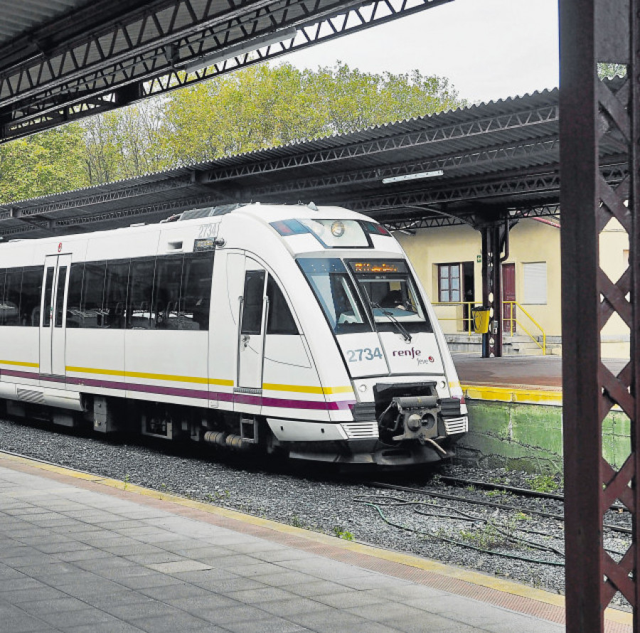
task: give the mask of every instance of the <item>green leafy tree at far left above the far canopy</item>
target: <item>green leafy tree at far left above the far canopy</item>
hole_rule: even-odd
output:
[[[78,124],[0,145],[0,201],[45,196],[89,184]]]

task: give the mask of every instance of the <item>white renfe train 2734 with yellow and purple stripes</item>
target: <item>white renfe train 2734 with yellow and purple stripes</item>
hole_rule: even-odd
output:
[[[10,415],[326,462],[452,454],[462,390],[398,242],[337,207],[0,244]]]

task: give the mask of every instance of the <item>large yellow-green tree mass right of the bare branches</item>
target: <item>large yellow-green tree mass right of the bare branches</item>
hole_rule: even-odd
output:
[[[466,105],[448,80],[375,75],[338,62],[245,68],[177,91],[165,101],[166,156],[176,164],[430,115]]]

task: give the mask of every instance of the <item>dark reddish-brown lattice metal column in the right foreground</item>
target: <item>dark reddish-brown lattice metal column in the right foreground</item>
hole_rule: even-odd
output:
[[[565,450],[567,632],[604,631],[619,591],[640,632],[638,422],[640,292],[640,0],[560,0],[560,213]],[[629,34],[631,33],[631,38]],[[629,50],[633,55],[629,55]],[[602,83],[597,63],[630,63],[627,79]],[[629,148],[629,178],[607,185],[599,169],[603,134]],[[626,199],[629,204],[626,206]],[[630,265],[619,279],[602,270],[599,235],[613,219],[629,235]],[[629,327],[631,361],[616,376],[602,363],[602,329],[618,315]],[[602,422],[614,405],[631,421],[629,457],[602,456]],[[616,500],[633,516],[633,543],[614,560],[603,518]]]

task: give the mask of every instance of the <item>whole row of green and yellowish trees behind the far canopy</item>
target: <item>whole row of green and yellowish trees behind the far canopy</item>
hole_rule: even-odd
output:
[[[448,80],[253,65],[0,146],[0,200],[40,196],[466,105]]]

